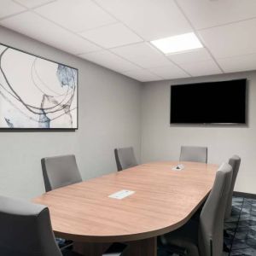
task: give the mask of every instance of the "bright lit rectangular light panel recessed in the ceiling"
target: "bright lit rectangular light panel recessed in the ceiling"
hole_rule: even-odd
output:
[[[203,45],[195,36],[194,32],[174,36],[171,38],[162,38],[150,42],[164,54],[172,54],[189,49],[202,48]]]

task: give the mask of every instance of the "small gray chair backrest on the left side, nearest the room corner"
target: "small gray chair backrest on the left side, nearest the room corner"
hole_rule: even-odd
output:
[[[137,166],[137,160],[135,158],[133,148],[115,148],[114,156],[116,160],[116,166],[118,171],[122,171],[133,166]]]

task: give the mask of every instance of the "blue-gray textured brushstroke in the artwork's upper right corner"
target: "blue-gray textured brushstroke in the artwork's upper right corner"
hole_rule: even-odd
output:
[[[61,82],[61,87],[75,88],[77,83],[77,72],[75,69],[59,64],[57,77]]]

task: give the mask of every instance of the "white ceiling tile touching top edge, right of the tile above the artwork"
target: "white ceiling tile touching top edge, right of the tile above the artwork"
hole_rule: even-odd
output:
[[[116,22],[90,0],[61,0],[36,9],[38,14],[65,26],[73,32],[84,32]]]

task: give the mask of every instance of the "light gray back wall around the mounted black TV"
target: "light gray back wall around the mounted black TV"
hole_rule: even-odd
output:
[[[170,126],[171,84],[240,78],[248,79],[247,127]],[[142,117],[142,162],[178,160],[181,145],[207,146],[208,161],[216,164],[227,161],[232,154],[238,154],[241,156],[241,169],[235,189],[256,194],[256,73],[143,84]]]

